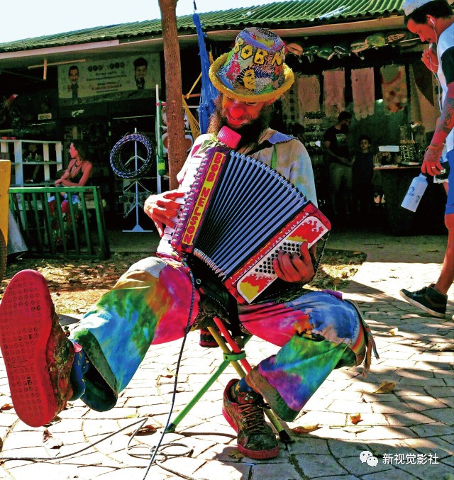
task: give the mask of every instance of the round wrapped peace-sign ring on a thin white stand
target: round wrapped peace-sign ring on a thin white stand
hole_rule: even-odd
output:
[[[139,149],[138,145],[137,153],[134,150],[133,155],[129,157],[126,162],[123,162],[121,158],[121,152],[125,144],[128,142],[138,142],[142,144],[147,151],[147,157],[143,158],[139,155],[139,150],[142,151],[143,149]],[[133,162],[136,155],[138,159],[137,168],[135,167],[135,161]],[[125,135],[123,138],[118,140],[118,142],[114,145],[114,148],[112,148],[110,156],[111,167],[114,170],[114,173],[123,179],[137,179],[144,177],[148,170],[150,170],[152,167],[153,160],[155,160],[155,145],[150,138],[142,133],[130,133],[129,135]],[[133,170],[130,169],[131,162],[133,164]],[[140,162],[142,164],[139,166]]]

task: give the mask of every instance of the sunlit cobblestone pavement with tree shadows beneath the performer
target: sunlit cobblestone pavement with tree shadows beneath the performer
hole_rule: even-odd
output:
[[[453,291],[446,320],[426,316],[398,294],[403,287],[416,289],[436,280],[445,238],[345,234],[331,238],[330,247],[367,253],[367,262],[344,290],[360,306],[380,352],[367,378],[362,378],[360,367],[333,372],[301,415],[287,424],[289,429],[319,428],[292,435],[294,442],[281,443],[277,458],[257,461],[238,454],[236,436],[221,415],[223,387],[236,376],[228,367],[177,432],[163,439],[185,445],[168,447],[167,452],[192,450],[190,457],[165,461],[160,457],[160,464],[173,473],[154,464],[148,479],[454,479]],[[4,456],[57,459],[9,460],[1,465],[0,478],[143,479],[148,467],[144,456],[167,423],[180,347],[181,342],[172,342],[150,349],[111,411],[91,411],[75,401],[50,425],[33,429],[18,420],[13,409],[1,409]],[[246,350],[255,363],[277,348],[253,339]],[[175,412],[204,384],[220,359],[220,349],[201,348],[198,333],[189,334],[179,368]],[[383,381],[395,386],[379,394]],[[0,406],[10,402],[0,362]],[[361,421],[353,425],[350,415],[355,413],[360,413]],[[131,456],[126,451],[128,435],[140,419],[150,428],[148,434],[132,440]],[[126,430],[107,437],[121,428]],[[62,458],[105,437],[88,450]]]

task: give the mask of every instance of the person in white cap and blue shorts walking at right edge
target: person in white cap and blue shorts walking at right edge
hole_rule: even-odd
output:
[[[405,0],[402,9],[406,27],[419,35],[421,42],[429,42],[421,60],[437,75],[442,89],[441,116],[424,154],[421,172],[431,177],[440,174],[444,169],[442,158],[450,172],[445,208],[448,244],[440,276],[429,286],[417,291],[402,289],[400,294],[431,316],[445,318],[447,294],[454,281],[454,11],[446,0]]]

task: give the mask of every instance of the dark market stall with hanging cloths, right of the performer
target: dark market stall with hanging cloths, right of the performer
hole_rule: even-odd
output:
[[[287,59],[296,81],[282,101],[284,123],[304,126],[304,143],[314,165],[319,203],[328,210],[329,165],[323,134],[339,113],[353,118],[348,131],[350,154],[359,152],[359,138],[372,140],[375,188],[384,222],[360,220],[396,235],[445,233],[443,186],[431,185],[416,214],[400,206],[411,179],[421,168],[423,152],[439,115],[436,78],[421,63],[419,38],[402,30],[370,35],[293,39]],[[392,152],[383,150],[392,146]],[[374,185],[375,187],[377,185]],[[381,191],[378,191],[381,190]],[[326,204],[326,207],[323,205]],[[431,211],[431,222],[423,221]],[[435,212],[435,217],[433,216]]]

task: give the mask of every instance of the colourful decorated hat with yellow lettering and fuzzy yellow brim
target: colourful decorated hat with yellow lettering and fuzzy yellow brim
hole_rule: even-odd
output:
[[[275,100],[294,82],[284,63],[284,42],[265,28],[245,28],[238,33],[231,52],[210,67],[211,82],[221,93],[240,101]]]

